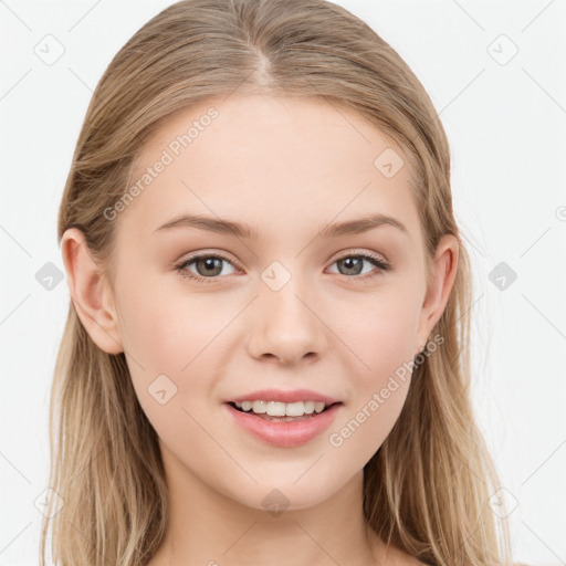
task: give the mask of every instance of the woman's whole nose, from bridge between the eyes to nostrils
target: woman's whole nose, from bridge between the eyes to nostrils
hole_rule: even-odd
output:
[[[306,354],[321,354],[324,325],[310,304],[313,289],[308,277],[274,261],[262,272],[261,280],[259,313],[250,343],[252,354],[276,356],[286,363],[297,361]]]

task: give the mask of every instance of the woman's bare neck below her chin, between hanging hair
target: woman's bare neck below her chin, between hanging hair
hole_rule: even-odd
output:
[[[148,566],[369,566],[381,545],[363,513],[363,472],[326,501],[279,514],[219,493],[163,450],[168,524]]]

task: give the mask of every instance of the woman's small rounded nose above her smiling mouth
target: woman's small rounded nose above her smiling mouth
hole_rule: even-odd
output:
[[[275,358],[296,365],[303,358],[314,360],[327,347],[321,302],[312,298],[298,277],[279,291],[263,285],[254,302],[250,355],[256,359]],[[318,312],[317,312],[318,311]]]

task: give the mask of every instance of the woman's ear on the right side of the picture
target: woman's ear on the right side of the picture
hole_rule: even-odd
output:
[[[444,312],[455,280],[458,256],[458,240],[452,234],[444,234],[432,262],[431,283],[422,303],[415,355],[424,349],[432,328]]]

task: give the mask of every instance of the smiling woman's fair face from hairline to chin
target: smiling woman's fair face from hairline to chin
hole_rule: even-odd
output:
[[[392,176],[374,164],[385,150],[405,160]],[[325,102],[210,99],[153,135],[130,184],[143,189],[107,213],[113,304],[139,402],[180,473],[250,507],[276,489],[302,509],[381,446],[410,385],[399,368],[447,297],[443,282],[427,293],[408,169],[378,129]],[[381,221],[350,223],[370,217]],[[317,396],[336,403],[286,424],[228,403]]]

